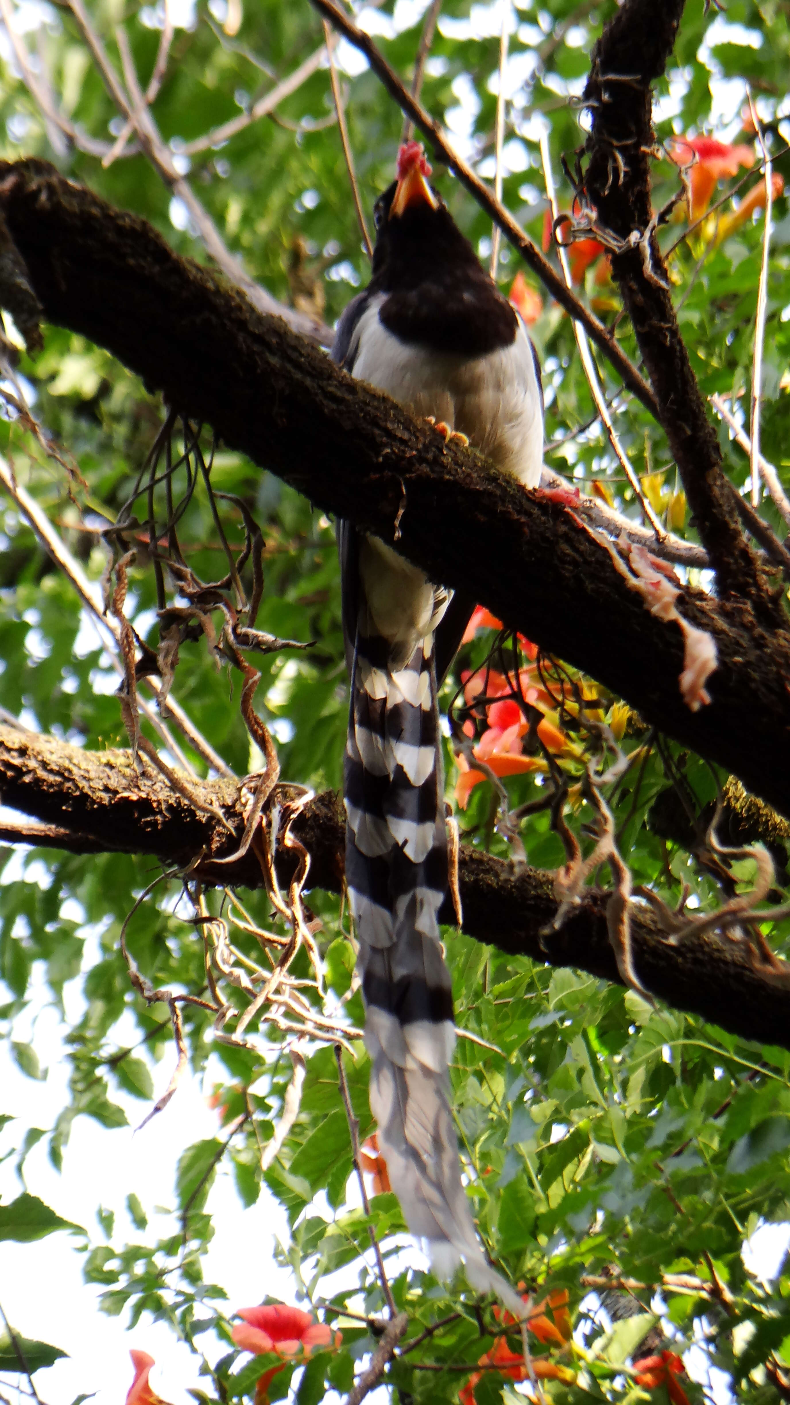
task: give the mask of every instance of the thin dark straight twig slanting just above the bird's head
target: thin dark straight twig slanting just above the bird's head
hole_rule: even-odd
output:
[[[585,308],[574,292],[571,292],[565,281],[554,271],[548,259],[544,259],[537,244],[534,244],[529,235],[524,233],[517,221],[513,219],[510,212],[505,209],[498,200],[495,200],[489,188],[478,176],[475,176],[472,169],[461,160],[447,140],[439,122],[406,90],[370,35],[360,30],[353,20],[350,20],[349,15],[340,10],[335,0],[311,0],[311,3],[319,14],[328,18],[336,30],[340,30],[340,32],[346,35],[349,42],[353,44],[356,49],[360,49],[360,52],[365,55],[371,69],[389,96],[395,100],[395,103],[398,103],[402,111],[410,117],[415,126],[419,126],[420,132],[425,133],[441,162],[444,162],[444,164],[455,173],[461,184],[470,191],[481,209],[484,209],[489,219],[499,226],[507,242],[513,244],[524,263],[529,264],[529,267],[538,275],[559,306],[565,308],[565,312],[568,312],[571,318],[581,322],[582,326],[586,327],[592,340],[602,348],[604,355],[609,357],[626,385],[634,392],[637,399],[641,400],[651,414],[659,420],[659,409],[652,389],[633,361],[628,360],[609,329],[599,322],[595,313]]]

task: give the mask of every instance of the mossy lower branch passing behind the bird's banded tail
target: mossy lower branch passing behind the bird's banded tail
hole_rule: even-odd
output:
[[[152,854],[180,867],[202,853],[193,875],[205,884],[261,887],[252,851],[238,864],[214,863],[233,851],[243,830],[236,784],[188,780],[204,805],[222,809],[236,832],[232,840],[218,821],[174,792],[145,760],[142,767],[135,769],[127,750],[87,752],[0,724],[3,799],[46,826],[31,825],[27,832],[20,826],[20,842],[72,853]],[[288,795],[288,785],[280,785],[276,798],[283,804]],[[337,892],[344,846],[339,798],[325,792],[311,801],[294,822],[294,835],[311,854],[309,884]],[[3,837],[13,835],[6,829]],[[290,875],[290,861],[287,853],[277,858],[283,881]],[[468,844],[461,844],[460,887],[468,936],[510,955],[620,981],[606,924],[606,894],[590,889],[559,932],[545,933],[557,912],[552,874],[538,868],[514,874],[510,864]],[[450,902],[441,919],[454,922]],[[790,985],[756,968],[742,944],[707,934],[673,947],[640,906],[634,908],[633,944],[640,979],[659,999],[744,1038],[790,1048]]]

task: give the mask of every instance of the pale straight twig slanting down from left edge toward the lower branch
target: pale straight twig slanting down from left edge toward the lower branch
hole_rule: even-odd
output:
[[[1,455],[0,455],[0,482],[4,483],[10,496],[14,499],[17,507],[27,518],[27,521],[35,531],[37,537],[41,540],[45,551],[52,556],[52,559],[60,568],[67,580],[70,580],[80,600],[89,608],[89,611],[100,625],[103,641],[107,638],[107,634],[110,634],[117,649],[119,646],[119,635],[121,635],[118,624],[114,620],[107,618],[107,615],[103,611],[101,603],[96,599],[94,594],[96,587],[87,579],[79,561],[76,561],[76,558],[72,555],[66,544],[58,535],[58,532],[52,527],[52,523],[49,521],[46,514],[41,510],[38,503],[30,496],[30,493],[21,486],[21,483],[17,483],[17,479],[14,478],[10,464],[7,464],[7,461]],[[122,677],[124,666],[117,653],[110,653],[110,659],[115,672]],[[149,676],[145,679],[145,683],[156,695],[159,695],[162,684],[157,679]],[[233,773],[231,767],[226,764],[226,762],[222,760],[219,753],[214,750],[214,747],[211,746],[209,742],[207,742],[202,733],[198,732],[194,722],[184,712],[183,707],[173,698],[167,700],[167,707],[170,710],[173,721],[180,728],[183,735],[187,738],[190,746],[194,746],[195,752],[200,756],[202,756],[202,759],[208,763],[208,766],[211,766],[219,776],[232,776]],[[148,721],[164,742],[170,754],[176,757],[179,764],[183,766],[186,771],[190,771],[194,776],[194,767],[190,764],[181,747],[176,742],[173,733],[164,725],[157,712],[148,702],[142,700],[141,700],[141,710],[145,712]]]

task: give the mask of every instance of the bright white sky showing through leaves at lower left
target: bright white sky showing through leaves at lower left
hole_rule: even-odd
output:
[[[20,850],[7,865],[0,884],[21,875],[24,851]],[[35,880],[37,868],[39,865],[31,867],[30,878]],[[72,912],[69,915],[73,916]],[[89,933],[86,962],[97,951],[96,936]],[[22,1184],[14,1169],[15,1158],[3,1161],[3,1156],[21,1144],[28,1127],[51,1128],[69,1102],[69,1065],[62,1043],[65,1028],[42,971],[41,964],[34,968],[32,999],[14,1026],[14,1040],[35,1043],[46,1078],[42,1082],[27,1078],[13,1062],[8,1044],[0,1044],[3,1111],[17,1118],[0,1132],[0,1200],[4,1204],[20,1194]],[[65,986],[63,996],[69,1021],[76,1023],[84,1009],[79,978]],[[111,1040],[121,1047],[136,1044],[138,1037],[127,1016],[111,1031]],[[143,1051],[138,1050],[141,1055]],[[169,1051],[160,1064],[153,1065],[156,1096],[164,1092],[173,1064],[174,1051],[173,1057]],[[93,1243],[105,1242],[96,1215],[100,1205],[115,1214],[115,1243],[150,1242],[171,1234],[173,1217],[157,1213],[156,1207],[167,1210],[174,1205],[176,1165],[184,1148],[202,1138],[222,1135],[216,1113],[207,1106],[204,1085],[209,1090],[214,1082],[224,1079],[224,1068],[219,1064],[212,1068],[211,1061],[204,1080],[187,1073],[169,1107],[139,1132],[135,1127],[142,1123],[149,1106],[112,1090],[112,1102],[124,1107],[129,1125],[108,1131],[90,1117],[77,1117],[60,1175],[49,1162],[48,1139],[44,1138],[24,1165],[28,1191],[39,1196],[63,1220],[83,1225]],[[149,1228],[142,1234],[127,1213],[129,1191],[135,1191],[149,1217]],[[325,1213],[329,1218],[322,1198],[313,1205],[313,1213]],[[350,1200],[354,1203],[353,1197]],[[228,1291],[228,1315],[236,1308],[260,1302],[267,1294],[295,1302],[291,1274],[274,1260],[276,1236],[288,1241],[285,1213],[266,1187],[257,1204],[245,1210],[231,1170],[221,1168],[209,1210],[215,1235],[202,1260],[204,1279],[219,1283]],[[156,1394],[171,1405],[194,1405],[187,1394],[190,1387],[211,1390],[211,1381],[198,1377],[197,1357],[176,1340],[166,1324],[152,1322],[149,1315],[132,1332],[127,1332],[128,1312],[119,1318],[107,1316],[98,1307],[103,1287],[83,1283],[84,1256],[75,1248],[79,1242],[63,1232],[31,1245],[0,1241],[0,1302],[11,1325],[22,1336],[49,1342],[69,1353],[67,1360],[37,1373],[35,1384],[42,1402],[70,1405],[77,1395],[96,1392],[96,1405],[121,1405],[132,1380],[128,1353],[135,1347],[148,1352],[157,1363],[152,1373]],[[408,1252],[415,1263],[422,1264],[416,1248]],[[356,1273],[343,1270],[325,1280],[322,1291],[329,1294],[344,1287],[353,1293],[356,1286]],[[226,1352],[212,1333],[202,1336],[201,1345],[211,1361]],[[295,1380],[298,1383],[298,1377]],[[368,1398],[371,1405],[384,1405],[389,1397],[380,1390]],[[325,1398],[326,1405],[337,1401],[335,1391]]]

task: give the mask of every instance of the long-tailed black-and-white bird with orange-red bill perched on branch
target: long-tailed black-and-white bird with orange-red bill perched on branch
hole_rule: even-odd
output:
[[[375,205],[368,287],[333,358],[444,436],[464,436],[527,488],[540,479],[543,395],[526,327],[481,268],[423,148],[398,153]],[[370,1100],[409,1229],[434,1272],[520,1300],[486,1263],[461,1184],[450,1106],[453,995],[439,932],[447,836],[437,681],[474,601],[377,537],[339,524],[351,673],[344,764],[346,878],[358,937]]]

